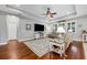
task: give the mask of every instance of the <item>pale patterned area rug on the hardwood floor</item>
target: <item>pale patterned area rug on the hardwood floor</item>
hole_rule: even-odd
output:
[[[32,40],[24,44],[40,57],[50,52],[48,39]]]

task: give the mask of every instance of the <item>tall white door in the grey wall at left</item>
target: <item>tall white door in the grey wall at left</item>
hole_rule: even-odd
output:
[[[8,24],[8,40],[17,39],[19,18],[14,15],[7,15]]]

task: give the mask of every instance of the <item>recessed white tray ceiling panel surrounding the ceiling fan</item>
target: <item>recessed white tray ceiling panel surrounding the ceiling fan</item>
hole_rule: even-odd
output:
[[[47,20],[53,20],[75,12],[75,7],[73,4],[21,4],[20,8],[39,18]],[[46,13],[47,8],[51,8],[51,12],[56,12],[57,14],[53,15],[53,18],[43,15]]]

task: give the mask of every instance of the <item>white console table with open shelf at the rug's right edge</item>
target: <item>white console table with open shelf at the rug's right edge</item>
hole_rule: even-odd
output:
[[[55,41],[53,39],[50,40],[51,51],[56,52],[63,57],[65,55],[65,43],[64,41]]]

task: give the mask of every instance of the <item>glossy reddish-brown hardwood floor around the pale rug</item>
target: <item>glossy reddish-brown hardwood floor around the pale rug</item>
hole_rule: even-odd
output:
[[[66,59],[85,59],[81,42],[73,42],[66,51]],[[23,43],[9,43],[0,46],[0,59],[63,59],[57,53],[48,52],[42,57],[36,56]]]

